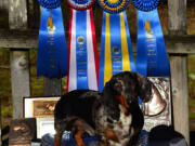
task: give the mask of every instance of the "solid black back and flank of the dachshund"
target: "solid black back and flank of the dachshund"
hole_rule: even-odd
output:
[[[100,93],[91,90],[76,90],[63,95],[55,106],[55,119],[65,120],[74,116],[94,128],[92,106],[98,97]]]

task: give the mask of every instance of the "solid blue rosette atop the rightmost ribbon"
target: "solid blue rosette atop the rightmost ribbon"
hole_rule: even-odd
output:
[[[159,0],[132,0],[132,2],[138,10],[145,12],[155,10],[159,4]]]

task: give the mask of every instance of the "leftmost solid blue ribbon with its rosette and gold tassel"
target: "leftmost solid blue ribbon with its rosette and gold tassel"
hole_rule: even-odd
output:
[[[62,78],[67,74],[67,45],[61,1],[39,0],[43,8],[39,28],[38,76]]]

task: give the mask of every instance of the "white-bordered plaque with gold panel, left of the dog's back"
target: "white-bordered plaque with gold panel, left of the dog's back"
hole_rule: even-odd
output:
[[[53,117],[60,96],[56,97],[24,97],[25,118]]]

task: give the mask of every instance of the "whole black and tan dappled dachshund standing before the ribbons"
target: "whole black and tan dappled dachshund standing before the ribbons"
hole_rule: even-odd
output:
[[[62,96],[54,110],[55,146],[65,130],[72,131],[78,146],[82,135],[98,135],[99,146],[135,146],[144,124],[138,96],[148,102],[152,83],[138,72],[112,77],[103,92],[76,90]]]

